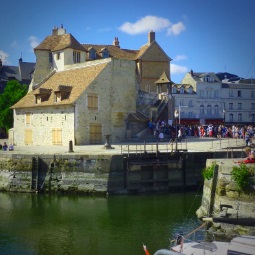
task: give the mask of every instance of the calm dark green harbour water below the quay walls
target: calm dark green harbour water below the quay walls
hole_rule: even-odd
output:
[[[0,254],[151,255],[200,224],[201,196],[0,193]]]

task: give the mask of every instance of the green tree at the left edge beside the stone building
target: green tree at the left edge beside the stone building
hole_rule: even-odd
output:
[[[28,86],[16,80],[6,84],[4,92],[0,94],[0,127],[9,130],[13,127],[13,110],[10,108],[27,93]]]

